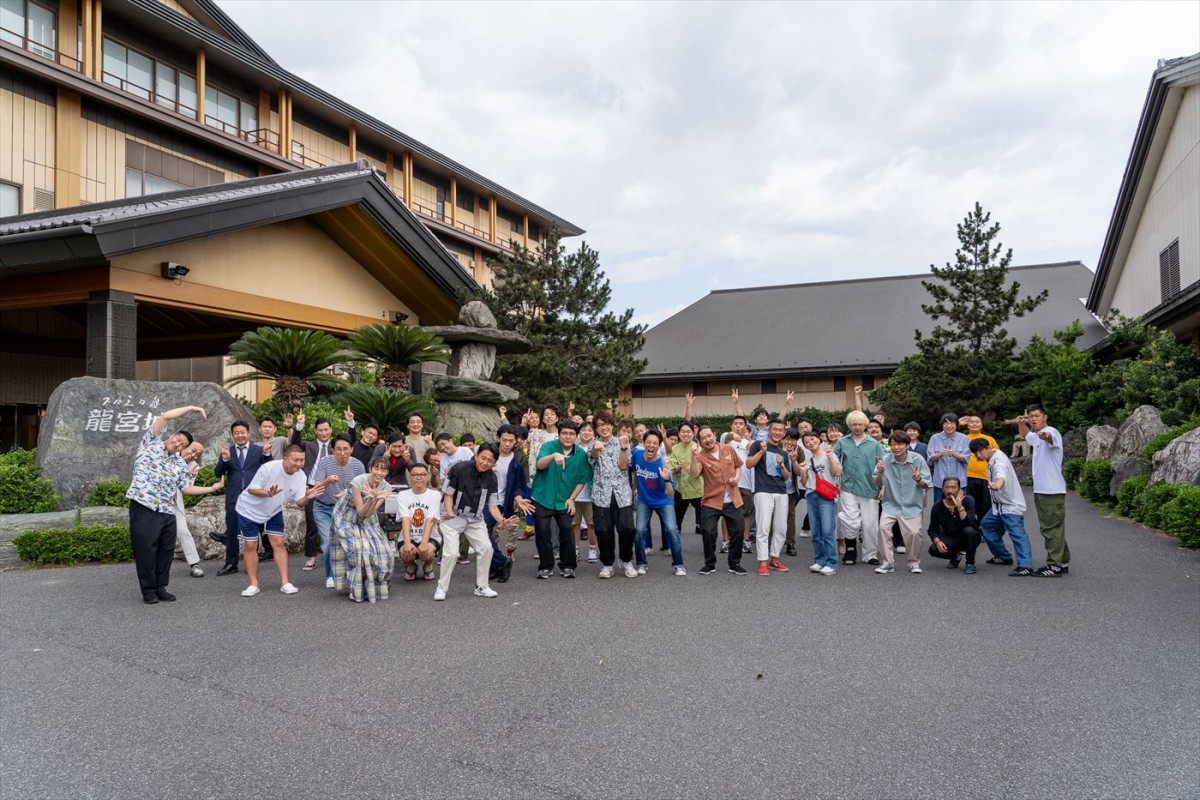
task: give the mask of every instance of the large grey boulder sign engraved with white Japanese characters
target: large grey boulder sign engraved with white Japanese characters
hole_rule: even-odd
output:
[[[64,509],[84,505],[96,481],[128,481],[143,432],[163,411],[199,405],[208,419],[188,414],[167,423],[186,428],[205,446],[202,464],[216,462],[235,420],[253,415],[217,384],[151,383],[72,378],[59,385],[37,434],[37,465],[54,485]]]

